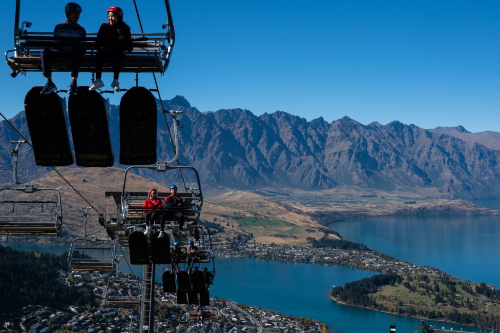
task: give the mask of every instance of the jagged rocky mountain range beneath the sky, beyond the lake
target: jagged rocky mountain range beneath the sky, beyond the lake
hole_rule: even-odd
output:
[[[452,136],[473,134],[465,129],[449,133],[398,121],[363,125],[348,117],[331,123],[322,118],[307,122],[282,111],[258,117],[242,109],[201,113],[181,96],[163,101],[163,106],[184,111],[179,117],[179,160],[198,170],[204,186],[327,189],[345,184],[388,191],[432,188],[458,197],[500,193],[500,151]],[[119,151],[117,115],[117,107],[112,106],[109,123],[115,154]],[[11,122],[29,137],[23,112]],[[11,179],[8,141],[17,137],[1,122],[0,180],[4,184]],[[34,166],[28,148],[21,151],[21,181],[47,172]],[[159,160],[173,155],[161,114],[157,148]]]

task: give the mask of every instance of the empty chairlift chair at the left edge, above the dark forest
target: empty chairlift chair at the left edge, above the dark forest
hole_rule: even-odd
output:
[[[0,189],[0,196],[5,194],[10,197],[7,192],[12,191],[23,192],[28,195],[33,195],[36,192],[55,192],[55,198],[52,200],[45,199],[45,197],[36,200],[1,200],[0,234],[61,236],[62,207],[61,194],[58,190],[26,185],[24,187]],[[7,205],[11,205],[9,211],[7,211]]]

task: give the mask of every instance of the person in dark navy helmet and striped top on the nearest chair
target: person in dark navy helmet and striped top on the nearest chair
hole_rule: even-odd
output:
[[[86,37],[85,29],[79,25],[81,7],[78,3],[68,2],[64,7],[66,20],[54,27],[54,37]],[[47,83],[41,88],[40,94],[48,94],[57,90],[52,82],[52,61],[58,57],[69,57],[71,66],[71,84],[68,85],[68,93],[76,95],[76,79],[80,68],[81,56],[85,48],[77,46],[47,47],[40,52],[41,68]]]

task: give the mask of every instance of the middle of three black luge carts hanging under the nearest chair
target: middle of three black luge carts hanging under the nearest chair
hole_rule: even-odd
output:
[[[87,86],[80,86],[77,91],[68,99],[76,165],[112,166],[114,160],[107,119],[109,102],[97,91],[88,91]]]

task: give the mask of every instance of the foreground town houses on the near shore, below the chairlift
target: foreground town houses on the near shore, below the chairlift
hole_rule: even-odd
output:
[[[106,287],[114,289],[116,294],[129,294],[128,289],[136,287],[136,282],[120,274],[115,277],[112,273],[60,272],[58,281],[68,286],[74,286],[84,291],[92,291],[96,299],[101,297],[100,305],[87,304],[83,306],[67,305],[64,308],[53,309],[30,305],[22,309],[23,317],[11,319],[2,323],[7,332],[87,332],[87,333],[118,333],[138,331],[139,313],[137,306],[108,305],[105,302]],[[126,283],[130,285],[127,286]],[[120,288],[118,288],[118,285]],[[174,294],[164,294],[161,286],[156,286],[155,299],[167,306],[176,305]],[[188,311],[193,311],[188,309]],[[159,319],[155,323],[158,332],[174,333],[179,326],[191,327],[197,332],[227,333],[247,332],[262,333],[263,331],[301,333],[321,332],[321,324],[304,326],[290,316],[281,316],[270,311],[261,311],[259,308],[238,305],[229,300],[213,302],[212,306],[204,307],[204,312],[210,311],[216,315],[216,320],[187,319],[185,312],[170,315],[168,319]],[[209,331],[211,330],[211,331]],[[193,331],[196,332],[196,331]]]

